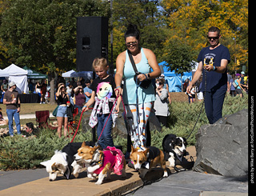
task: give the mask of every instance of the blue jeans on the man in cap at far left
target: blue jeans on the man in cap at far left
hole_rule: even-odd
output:
[[[19,113],[16,110],[6,109],[6,114],[8,116],[8,125],[9,125],[9,134],[14,135],[14,127],[13,127],[13,118],[16,124],[17,133],[21,134],[21,124],[19,121]]]

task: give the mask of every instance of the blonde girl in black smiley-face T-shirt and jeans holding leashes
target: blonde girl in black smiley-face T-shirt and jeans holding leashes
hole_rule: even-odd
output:
[[[114,106],[116,99],[116,95],[114,93],[115,83],[114,78],[107,74],[109,66],[107,65],[106,58],[95,58],[93,68],[95,73],[98,75],[98,78],[95,78],[94,82],[92,82],[90,86],[90,89],[92,90],[90,100],[86,102],[82,110],[87,111],[88,107],[95,102],[94,109],[90,114],[89,125],[94,127],[98,124],[98,137],[101,135],[98,140],[98,145],[105,149],[107,146],[114,146],[111,135],[112,123],[119,112],[121,97],[118,97],[118,102],[116,106]],[[115,110],[110,115],[110,118],[108,118],[113,106]],[[102,130],[104,126],[104,130]]]

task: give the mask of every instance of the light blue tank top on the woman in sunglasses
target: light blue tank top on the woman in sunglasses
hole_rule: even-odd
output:
[[[142,60],[136,64],[138,72],[143,74],[150,73],[150,65],[148,60],[141,49]],[[126,62],[123,69],[123,75],[125,77],[123,87],[123,100],[125,104],[136,104],[136,83],[134,82],[134,68],[131,65],[128,52],[126,50]],[[147,89],[138,87],[138,104],[142,102],[153,102],[155,100],[154,86],[151,84]]]

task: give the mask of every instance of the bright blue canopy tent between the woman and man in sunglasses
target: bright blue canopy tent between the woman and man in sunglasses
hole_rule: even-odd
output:
[[[174,71],[168,70],[166,66],[167,62],[160,62],[158,65],[168,82],[169,92],[182,92],[182,83],[185,82],[187,78],[189,78],[190,81],[192,80],[192,72],[184,72],[181,82],[181,74],[175,74]]]

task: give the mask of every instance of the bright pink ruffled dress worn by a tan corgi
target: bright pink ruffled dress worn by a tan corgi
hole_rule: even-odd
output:
[[[122,151],[115,147],[107,146],[106,149],[103,150],[103,154],[102,166],[94,170],[94,174],[100,174],[106,164],[110,162],[110,170],[113,170],[114,174],[122,175],[122,160],[124,156]]]

